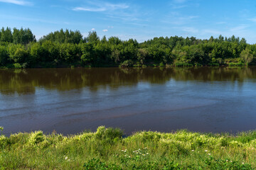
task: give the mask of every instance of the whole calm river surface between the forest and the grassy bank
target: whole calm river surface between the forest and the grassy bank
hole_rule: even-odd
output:
[[[0,70],[4,134],[256,129],[256,67]]]

